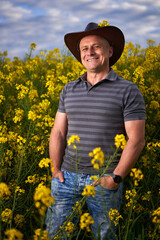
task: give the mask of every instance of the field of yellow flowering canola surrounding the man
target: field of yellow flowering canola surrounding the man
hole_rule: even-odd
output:
[[[64,48],[12,61],[0,52],[0,239],[49,240],[45,213],[50,196],[48,143],[59,95],[68,81],[84,73],[83,66]],[[160,44],[148,40],[142,49],[131,42],[113,66],[139,87],[146,103],[146,146],[124,182],[121,211],[110,212],[119,240],[159,239],[160,234]],[[76,139],[72,139],[73,142]],[[54,167],[54,166],[53,166]],[[88,193],[90,192],[90,193]],[[94,194],[94,189],[84,191]],[[76,203],[74,214],[54,239],[92,239],[93,219]]]

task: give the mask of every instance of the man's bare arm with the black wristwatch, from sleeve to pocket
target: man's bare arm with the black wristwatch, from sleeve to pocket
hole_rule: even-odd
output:
[[[124,179],[134,167],[145,146],[145,120],[125,122],[125,129],[128,141],[122,152],[120,161],[114,169],[114,174],[120,175],[122,179]],[[112,177],[102,177],[100,183],[109,189],[115,189],[118,186]]]

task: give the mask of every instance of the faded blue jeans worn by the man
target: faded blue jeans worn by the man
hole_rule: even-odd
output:
[[[58,230],[59,226],[66,221],[66,216],[69,216],[73,211],[73,206],[76,201],[82,198],[82,192],[85,185],[90,185],[93,180],[90,180],[92,175],[76,174],[63,171],[64,183],[59,181],[59,178],[52,178],[51,195],[54,197],[55,203],[52,208],[49,207],[46,215],[46,226],[49,237],[52,239]],[[122,201],[121,183],[116,190],[110,190],[101,185],[95,186],[95,197],[88,197],[86,204],[90,215],[94,219],[94,224],[91,224],[92,232],[95,239],[98,239],[98,229],[100,228],[101,240],[115,240],[116,227],[110,221],[108,212],[110,209],[120,210]]]

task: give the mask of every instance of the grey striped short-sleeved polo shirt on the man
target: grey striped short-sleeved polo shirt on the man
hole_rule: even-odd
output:
[[[58,112],[67,114],[67,140],[72,135],[80,137],[77,153],[72,145],[67,145],[62,168],[97,174],[99,170],[93,169],[89,153],[101,147],[107,164],[116,149],[115,136],[126,135],[124,122],[145,119],[145,103],[137,86],[111,69],[107,77],[94,86],[86,81],[86,73],[67,83],[60,95]],[[121,150],[109,165],[108,173],[113,172],[120,154]]]

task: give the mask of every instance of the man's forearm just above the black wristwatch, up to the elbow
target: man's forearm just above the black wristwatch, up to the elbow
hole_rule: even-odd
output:
[[[128,175],[130,170],[134,167],[140,153],[145,145],[145,140],[141,139],[139,142],[128,140],[124,148],[120,161],[114,170],[114,173],[120,175],[123,179]]]

